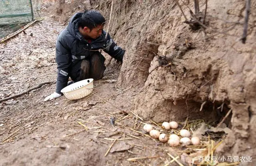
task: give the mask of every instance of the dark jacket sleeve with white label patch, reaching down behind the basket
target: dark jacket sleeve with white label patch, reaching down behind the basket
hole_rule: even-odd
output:
[[[71,63],[71,51],[67,46],[66,41],[60,36],[56,41],[56,63],[57,63],[57,81],[56,81],[56,93],[62,94],[60,91],[68,84],[69,78],[69,66]]]

